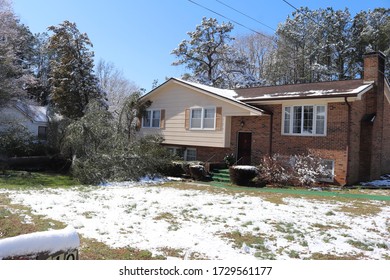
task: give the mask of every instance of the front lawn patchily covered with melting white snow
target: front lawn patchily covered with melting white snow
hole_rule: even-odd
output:
[[[210,191],[183,182],[0,194],[113,248],[174,249],[190,259],[390,258],[384,201]]]

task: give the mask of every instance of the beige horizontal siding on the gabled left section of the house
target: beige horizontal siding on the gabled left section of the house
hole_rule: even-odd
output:
[[[164,129],[141,129],[141,135],[159,133],[166,144],[206,147],[229,147],[230,145],[230,116],[249,116],[251,112],[229,101],[198,92],[176,83],[167,84],[158,89],[151,97],[149,109],[163,109]],[[191,129],[186,123],[186,109],[215,107],[216,127],[212,130]],[[187,110],[189,112],[189,110]],[[220,117],[217,115],[220,114]],[[187,116],[188,117],[188,116]],[[228,122],[228,128],[226,123]]]

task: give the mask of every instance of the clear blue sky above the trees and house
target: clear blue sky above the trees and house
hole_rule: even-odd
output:
[[[283,0],[219,0],[268,25],[259,24],[216,0],[193,0],[251,29],[273,34],[294,8]],[[299,8],[348,7],[352,16],[361,10],[390,7],[390,0],[288,0]],[[13,0],[14,10],[33,33],[44,32],[64,20],[88,34],[95,61],[104,59],[122,70],[138,86],[150,90],[154,79],[180,77],[183,67],[171,66],[171,51],[200,24],[202,17],[227,19],[188,0]],[[235,25],[233,35],[250,33]]]

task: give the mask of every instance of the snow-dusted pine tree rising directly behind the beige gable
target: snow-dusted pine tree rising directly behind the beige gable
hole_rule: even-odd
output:
[[[243,85],[254,78],[248,69],[248,60],[229,43],[233,24],[219,24],[216,19],[203,18],[193,32],[188,32],[190,39],[183,40],[172,51],[177,61],[173,65],[185,65],[191,74],[190,80],[219,88]]]

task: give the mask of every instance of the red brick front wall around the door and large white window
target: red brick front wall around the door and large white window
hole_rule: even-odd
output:
[[[347,183],[348,106],[346,103],[329,103],[327,106],[327,136],[282,135],[282,105],[262,106],[273,113],[272,153],[290,156],[315,153],[323,159],[335,161],[335,183]],[[244,126],[241,127],[241,122]],[[358,124],[354,126],[359,127]],[[271,116],[232,117],[231,146],[237,152],[239,132],[252,133],[252,165],[257,165],[270,152]],[[358,133],[359,134],[359,133]],[[358,135],[356,136],[357,139]]]

